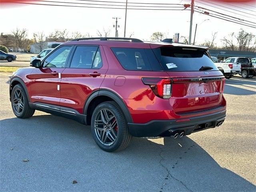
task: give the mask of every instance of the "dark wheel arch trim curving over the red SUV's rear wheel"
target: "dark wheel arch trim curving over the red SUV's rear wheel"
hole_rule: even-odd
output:
[[[88,106],[90,105],[90,102],[96,98],[97,96],[108,96],[110,98],[112,98],[117,104],[118,106],[122,109],[122,112],[124,113],[124,116],[126,117],[126,120],[128,123],[132,123],[132,117],[130,115],[130,112],[126,106],[126,104],[124,103],[124,101],[122,100],[122,98],[120,98],[120,96],[118,96],[115,92],[111,91],[111,90],[107,90],[107,89],[100,89],[97,90],[95,92],[93,92],[88,99],[86,100],[85,104],[84,104],[84,114],[86,115],[88,112]]]

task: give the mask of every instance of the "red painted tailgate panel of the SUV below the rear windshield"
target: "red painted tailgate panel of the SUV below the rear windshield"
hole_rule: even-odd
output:
[[[169,101],[176,114],[199,112],[221,106],[224,77],[172,78],[172,80],[172,96]]]

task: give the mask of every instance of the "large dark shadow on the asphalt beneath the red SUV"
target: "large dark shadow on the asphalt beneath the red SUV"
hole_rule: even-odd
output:
[[[98,148],[90,126],[53,115],[0,120],[0,135],[3,191],[256,190],[187,136],[133,138],[109,153]]]

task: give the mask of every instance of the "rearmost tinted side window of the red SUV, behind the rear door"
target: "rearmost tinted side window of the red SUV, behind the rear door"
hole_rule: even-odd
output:
[[[135,70],[135,71],[157,70],[157,68],[154,66],[152,69],[151,63],[149,61],[150,58],[148,59],[147,57],[148,51],[150,51],[150,49],[149,50],[141,49],[141,48],[111,48],[111,49],[114,52],[117,60],[122,65],[122,67],[126,70]],[[151,54],[154,55],[153,52]],[[160,68],[160,70],[162,70],[159,63],[158,65],[159,65],[158,69]]]

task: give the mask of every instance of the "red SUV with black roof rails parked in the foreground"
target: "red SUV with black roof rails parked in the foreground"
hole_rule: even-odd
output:
[[[134,38],[82,38],[14,72],[18,118],[40,110],[91,125],[100,148],[126,148],[132,136],[182,137],[220,126],[224,76],[208,48]]]

